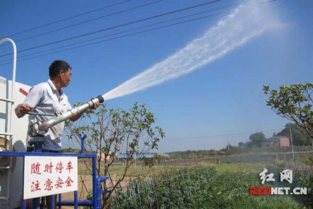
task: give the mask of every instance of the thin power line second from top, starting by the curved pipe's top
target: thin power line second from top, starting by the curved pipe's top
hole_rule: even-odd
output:
[[[111,13],[111,14],[109,14],[109,15],[104,15],[104,16],[96,17],[96,18],[93,18],[93,19],[90,19],[90,20],[86,20],[86,21],[83,21],[83,22],[78,22],[78,23],[76,23],[76,24],[71,24],[71,25],[69,25],[69,26],[64,26],[64,27],[59,28],[59,29],[54,29],[54,30],[51,30],[51,31],[47,31],[47,32],[45,32],[45,33],[39,33],[39,34],[36,34],[36,35],[34,35],[34,36],[29,36],[29,37],[27,37],[27,38],[22,38],[22,39],[16,40],[15,42],[20,42],[20,41],[22,41],[22,40],[28,40],[28,39],[35,38],[35,37],[38,37],[38,36],[43,36],[43,35],[45,35],[45,34],[53,33],[53,32],[56,32],[56,31],[61,31],[61,30],[63,30],[63,29],[69,29],[69,28],[71,28],[71,27],[73,27],[73,26],[78,26],[78,25],[80,25],[80,24],[85,24],[85,23],[87,23],[87,22],[93,22],[93,21],[95,21],[95,20],[99,20],[99,19],[102,19],[102,18],[104,18],[104,17],[110,17],[110,16],[113,16],[113,15],[118,15],[118,14],[120,14],[120,13],[125,13],[125,12],[130,11],[130,10],[134,10],[134,9],[137,9],[137,8],[141,8],[141,7],[144,7],[144,6],[148,6],[148,5],[151,5],[151,4],[154,4],[154,3],[159,3],[160,1],[163,1],[163,0],[152,1],[152,2],[150,2],[150,3],[145,3],[145,4],[140,5],[140,6],[135,6],[135,7],[132,7],[132,8],[128,8],[128,9],[126,9],[126,10],[121,10],[121,11],[118,11],[118,12],[115,12],[115,13]]]

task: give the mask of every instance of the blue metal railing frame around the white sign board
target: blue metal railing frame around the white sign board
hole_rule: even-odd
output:
[[[74,191],[74,200],[73,201],[62,201],[62,195],[58,194],[58,202],[56,206],[61,208],[61,206],[74,206],[75,209],[78,206],[92,206],[93,208],[102,208],[101,204],[101,196],[102,196],[102,188],[101,185],[104,183],[109,177],[108,176],[99,176],[97,177],[97,155],[92,153],[85,153],[84,152],[84,139],[86,138],[85,135],[79,134],[79,138],[81,139],[81,153],[41,153],[41,146],[42,143],[35,143],[34,144],[34,153],[26,153],[26,152],[7,152],[3,151],[0,152],[0,156],[9,156],[9,157],[25,157],[25,156],[62,156],[62,157],[78,157],[78,158],[92,158],[93,160],[93,199],[92,200],[78,200],[77,191]],[[23,172],[24,172],[24,164],[23,164]],[[24,173],[23,173],[23,185],[24,185]],[[23,191],[24,192],[24,191]],[[45,202],[45,198],[41,197],[41,205],[40,205],[40,197],[32,199],[32,208],[38,209],[42,208]],[[54,195],[51,195],[51,208],[54,208]],[[26,200],[23,199],[22,201],[22,208],[26,208]]]

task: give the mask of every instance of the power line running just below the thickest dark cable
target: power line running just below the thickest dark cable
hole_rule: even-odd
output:
[[[198,12],[198,13],[193,13],[191,15],[184,15],[182,17],[176,17],[176,18],[173,18],[173,19],[170,19],[170,20],[164,20],[162,22],[157,22],[157,23],[153,23],[153,24],[147,24],[145,26],[140,26],[140,27],[136,27],[134,29],[129,29],[129,30],[126,30],[126,31],[120,31],[118,33],[111,33],[111,34],[108,34],[106,36],[101,36],[101,37],[98,37],[98,38],[92,38],[92,39],[88,39],[88,40],[84,40],[82,42],[74,42],[70,45],[65,45],[65,46],[62,46],[62,47],[54,47],[52,49],[47,49],[47,50],[43,50],[43,51],[40,51],[40,52],[34,52],[34,53],[31,53],[31,54],[26,54],[26,55],[23,55],[23,56],[19,56],[19,58],[22,58],[22,57],[26,57],[26,56],[31,56],[31,55],[35,55],[35,54],[41,54],[41,53],[45,53],[45,52],[49,52],[49,51],[53,51],[53,50],[56,50],[56,49],[61,49],[61,48],[65,48],[65,47],[70,47],[72,45],[78,45],[78,44],[82,44],[84,42],[90,42],[90,41],[93,41],[93,40],[99,40],[101,38],[106,38],[106,37],[109,37],[109,36],[115,36],[115,35],[118,35],[118,34],[121,34],[121,33],[127,33],[127,32],[130,32],[130,31],[136,31],[138,29],[144,29],[144,28],[147,28],[147,27],[150,27],[150,26],[154,26],[154,25],[157,25],[157,24],[163,24],[163,23],[166,23],[166,22],[172,22],[172,21],[175,21],[175,20],[180,20],[180,19],[183,19],[183,18],[186,18],[186,17],[191,17],[191,16],[195,16],[195,15],[200,15],[200,14],[203,14],[203,13],[208,13],[208,12],[211,12],[211,11],[214,11],[214,10],[220,10],[220,9],[224,9],[224,8],[230,8],[230,7],[233,7],[233,6],[236,6],[238,5],[238,3],[235,3],[235,4],[231,4],[231,5],[228,5],[228,6],[222,6],[222,7],[219,7],[219,8],[214,8],[214,9],[211,9],[211,10],[204,10],[202,12]],[[223,14],[223,13],[216,13],[214,15],[220,15],[220,14]],[[211,16],[214,16],[214,15],[211,15]],[[93,43],[90,43],[90,45],[92,45]],[[68,49],[69,50],[69,49]],[[47,55],[47,54],[46,54]],[[36,58],[38,56],[33,56],[32,58]],[[5,60],[2,60],[0,62],[3,62],[3,61],[10,61],[12,60],[11,58],[10,59],[5,59]]]

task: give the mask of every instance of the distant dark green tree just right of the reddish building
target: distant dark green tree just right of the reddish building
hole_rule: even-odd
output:
[[[300,126],[296,125],[295,123],[287,123],[284,126],[284,129],[277,134],[277,136],[286,136],[290,137],[290,129],[292,133],[292,141],[294,146],[302,146],[302,145],[310,145],[311,144],[311,137],[307,132]]]

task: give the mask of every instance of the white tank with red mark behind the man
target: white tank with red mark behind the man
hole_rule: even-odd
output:
[[[10,98],[11,81],[0,77],[0,98]],[[14,104],[11,121],[13,134],[13,148],[15,151],[26,152],[26,136],[28,117],[17,118],[14,109],[26,98],[31,86],[15,82]],[[8,123],[8,109],[10,102],[0,101],[0,133],[8,132],[6,130]],[[0,134],[0,137],[8,139],[8,136]],[[1,162],[1,159],[0,159]],[[5,165],[0,164],[0,208],[12,209],[21,206],[22,203],[22,179],[23,179],[23,157],[16,157],[12,160],[12,168],[5,169]],[[10,178],[9,173],[10,172]],[[8,180],[10,179],[10,183]],[[9,188],[8,188],[9,186]],[[8,199],[6,198],[8,196]]]

